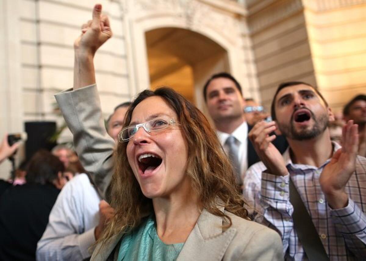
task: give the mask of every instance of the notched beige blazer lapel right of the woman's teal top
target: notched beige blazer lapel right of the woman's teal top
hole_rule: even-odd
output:
[[[223,210],[223,209],[222,209]],[[203,210],[177,258],[180,260],[222,260],[236,234],[235,228],[222,231],[223,219]]]

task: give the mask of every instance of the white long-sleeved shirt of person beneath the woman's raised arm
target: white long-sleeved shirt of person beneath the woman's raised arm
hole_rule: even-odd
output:
[[[86,174],[76,175],[67,182],[38,241],[37,260],[76,261],[90,257],[88,248],[96,241],[94,228],[99,222],[99,202],[100,197]]]

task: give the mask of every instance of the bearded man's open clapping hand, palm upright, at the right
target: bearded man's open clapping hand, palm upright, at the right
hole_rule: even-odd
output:
[[[319,182],[329,206],[340,209],[347,206],[345,187],[356,168],[358,126],[349,120],[342,130],[342,148],[333,154],[320,174]]]

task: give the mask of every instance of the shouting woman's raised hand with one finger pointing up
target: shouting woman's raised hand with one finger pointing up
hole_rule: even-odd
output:
[[[81,26],[81,35],[75,40],[76,51],[94,55],[98,48],[112,37],[108,16],[102,15],[102,5],[96,4],[93,19]]]

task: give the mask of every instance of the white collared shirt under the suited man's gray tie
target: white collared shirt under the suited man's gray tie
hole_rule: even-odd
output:
[[[224,147],[226,153],[228,153],[228,148],[225,145],[226,139],[229,136],[234,136],[236,138],[236,142],[239,144],[239,162],[240,162],[240,176],[244,176],[247,168],[248,168],[248,159],[247,159],[247,150],[248,150],[248,124],[243,122],[238,128],[236,128],[233,133],[228,134],[221,131],[216,131],[217,137],[221,145]]]

